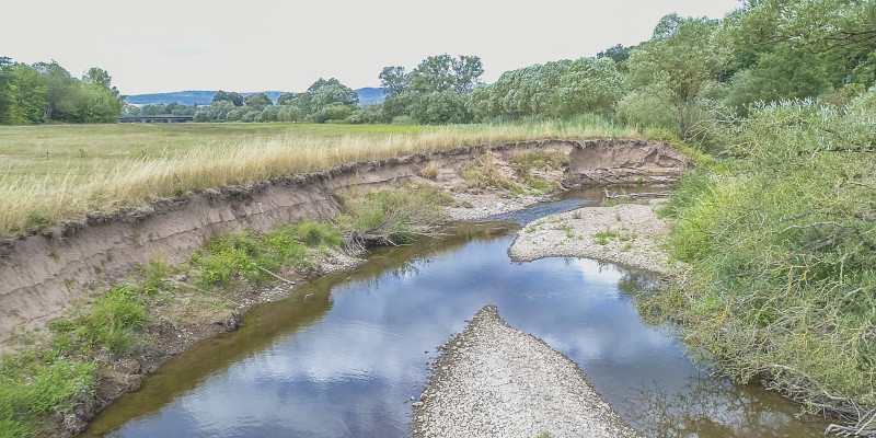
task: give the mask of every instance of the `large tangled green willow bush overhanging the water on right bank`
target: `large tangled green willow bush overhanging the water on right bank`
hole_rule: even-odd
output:
[[[684,288],[644,308],[741,381],[876,405],[873,119],[788,102],[731,127],[734,158],[688,175],[664,211],[672,255],[692,266]]]

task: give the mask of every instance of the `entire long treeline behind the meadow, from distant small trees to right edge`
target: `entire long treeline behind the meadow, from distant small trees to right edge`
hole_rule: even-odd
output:
[[[430,56],[379,73],[383,103],[358,107],[336,80],[276,104],[237,93],[192,112],[197,120],[397,124],[492,123],[597,114],[684,138],[747,115],[757,102],[818,97],[840,107],[876,82],[874,2],[746,2],[722,20],[670,14],[649,41],[481,80],[476,56]],[[217,95],[217,96],[219,96]],[[232,99],[233,97],[233,99]]]

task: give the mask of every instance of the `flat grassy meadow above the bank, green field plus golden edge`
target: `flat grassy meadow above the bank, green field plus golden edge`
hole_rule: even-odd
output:
[[[359,160],[552,138],[630,138],[596,117],[443,127],[115,124],[0,127],[0,234],[189,191]]]

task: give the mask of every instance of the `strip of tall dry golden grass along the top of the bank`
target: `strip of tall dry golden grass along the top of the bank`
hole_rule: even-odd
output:
[[[221,136],[218,129],[212,136]],[[46,227],[89,211],[112,211],[189,191],[265,181],[361,160],[440,151],[464,146],[540,139],[637,138],[631,128],[598,119],[551,120],[525,125],[447,126],[420,134],[263,138],[194,147],[162,158],[123,159],[82,177],[23,175],[0,182],[0,234]],[[140,139],[142,141],[142,139]],[[79,172],[79,171],[77,171]]]

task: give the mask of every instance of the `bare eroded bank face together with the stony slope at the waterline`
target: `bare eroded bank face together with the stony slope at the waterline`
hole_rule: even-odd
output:
[[[535,152],[553,154],[557,158],[552,159],[558,161],[545,165],[518,160]],[[435,186],[453,194],[447,220],[472,220],[544,200],[542,194],[551,187],[643,177],[671,181],[685,165],[685,159],[678,152],[646,142],[505,145],[356,163],[319,175],[193,194],[117,215],[92,215],[84,222],[66,223],[20,241],[3,241],[2,267],[20,262],[23,265],[11,270],[15,276],[0,280],[0,286],[7,288],[0,300],[10,304],[0,309],[14,316],[2,320],[0,325],[5,325],[0,326],[0,332],[10,328],[15,318],[27,320],[27,327],[38,330],[43,322],[99,295],[106,287],[103,285],[126,278],[135,267],[138,273],[148,270],[154,261],[150,256],[158,254],[161,263],[169,264],[185,261],[192,249],[197,247],[196,242],[203,243],[221,230],[258,232],[283,223],[284,219],[331,216],[341,208],[339,197],[349,196],[344,194],[350,191],[369,192],[402,183]],[[51,262],[46,263],[35,251],[48,251]],[[31,258],[25,257],[28,254]],[[243,313],[252,307],[291,297],[310,278],[360,263],[350,255],[356,254],[320,250],[314,253],[316,264],[272,274],[281,279],[277,286],[264,289],[238,281],[231,290],[223,291],[219,301],[216,296],[196,293],[200,289],[186,278],[185,269],[171,279],[162,279],[149,292],[148,313],[152,316],[147,326],[147,345],[132,355],[100,354],[100,384],[93,396],[83,393],[72,408],[58,414],[59,436],[81,430],[96,412],[122,394],[140,388],[143,377],[154,372],[168,358],[199,339],[235,330]],[[90,266],[92,262],[96,264]],[[61,284],[61,290],[53,291]],[[159,297],[152,296],[153,292]],[[308,295],[299,299],[306,303]],[[33,338],[30,331],[25,333]]]

